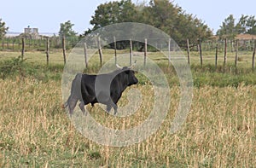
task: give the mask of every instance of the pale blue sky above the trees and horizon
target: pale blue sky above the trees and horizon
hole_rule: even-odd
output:
[[[23,32],[26,26],[38,27],[39,32],[58,32],[61,23],[71,20],[74,31],[82,33],[90,27],[96,7],[106,2],[109,0],[1,0],[0,18],[10,32]],[[234,14],[237,20],[241,14],[256,15],[255,0],[174,0],[174,3],[205,21],[214,32],[229,14]]]

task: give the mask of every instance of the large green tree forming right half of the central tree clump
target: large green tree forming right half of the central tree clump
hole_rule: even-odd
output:
[[[205,23],[192,14],[186,14],[169,0],[151,0],[144,8],[143,22],[166,32],[179,46],[185,45],[187,38],[191,45],[195,45],[198,39],[212,36]]]

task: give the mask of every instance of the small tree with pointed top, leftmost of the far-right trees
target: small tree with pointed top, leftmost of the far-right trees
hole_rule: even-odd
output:
[[[235,18],[233,14],[230,14],[218,29],[217,35],[219,38],[234,39],[238,34],[237,27],[235,25]]]

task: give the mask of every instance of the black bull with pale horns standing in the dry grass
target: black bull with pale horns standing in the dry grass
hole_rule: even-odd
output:
[[[81,111],[86,115],[84,106],[96,103],[107,105],[107,111],[113,107],[114,114],[117,113],[117,102],[123,91],[132,84],[137,84],[135,72],[131,67],[123,67],[110,73],[99,75],[88,75],[78,73],[73,79],[71,94],[65,103],[70,115],[78,101]]]

